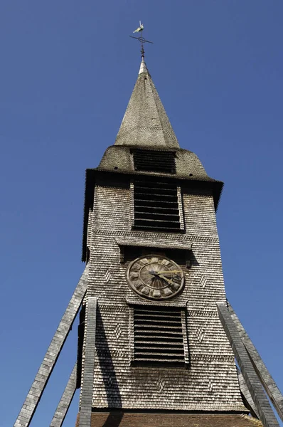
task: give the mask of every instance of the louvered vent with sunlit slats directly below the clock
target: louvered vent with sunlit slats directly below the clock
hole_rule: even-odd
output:
[[[185,362],[180,309],[134,308],[134,361]]]

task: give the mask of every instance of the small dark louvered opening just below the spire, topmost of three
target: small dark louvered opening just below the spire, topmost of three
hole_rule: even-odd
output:
[[[176,174],[175,152],[137,149],[133,152],[136,171]]]

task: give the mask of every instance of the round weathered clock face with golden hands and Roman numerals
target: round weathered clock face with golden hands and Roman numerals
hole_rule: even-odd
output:
[[[129,264],[127,280],[134,292],[149,300],[168,300],[183,289],[181,267],[161,255],[141,256]]]

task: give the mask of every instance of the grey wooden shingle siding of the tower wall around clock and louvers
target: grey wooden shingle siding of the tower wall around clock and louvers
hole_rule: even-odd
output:
[[[87,292],[97,295],[100,318],[92,407],[245,411],[233,352],[215,305],[225,300],[225,290],[213,196],[183,194],[186,233],[133,230],[130,200],[131,189],[95,188]],[[117,240],[141,241],[157,248],[192,245],[183,292],[162,303],[135,294],[127,283],[129,261],[121,263]],[[131,365],[129,307],[138,305],[186,311],[188,369]]]

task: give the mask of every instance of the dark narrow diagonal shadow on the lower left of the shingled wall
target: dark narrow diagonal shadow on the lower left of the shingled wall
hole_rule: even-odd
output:
[[[97,307],[96,343],[97,356],[100,361],[100,369],[105,385],[108,407],[110,410],[111,408],[116,409],[114,413],[109,414],[103,427],[118,427],[123,418],[122,411],[119,411],[119,408],[122,408],[122,399],[99,306]]]

